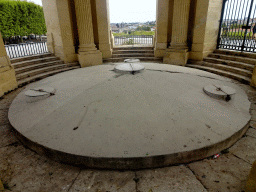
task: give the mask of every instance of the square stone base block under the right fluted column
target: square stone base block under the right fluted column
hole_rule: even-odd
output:
[[[167,49],[164,54],[163,63],[185,66],[188,61],[188,49]]]

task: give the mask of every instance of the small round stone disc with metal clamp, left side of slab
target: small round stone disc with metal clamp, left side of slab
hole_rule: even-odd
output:
[[[52,87],[37,87],[34,89],[30,89],[25,92],[26,101],[28,103],[33,103],[33,102],[46,99],[51,95],[55,95],[55,91],[56,90]]]

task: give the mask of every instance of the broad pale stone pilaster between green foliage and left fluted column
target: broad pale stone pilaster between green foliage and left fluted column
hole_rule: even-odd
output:
[[[47,46],[65,63],[77,61],[69,0],[42,0],[47,27]]]

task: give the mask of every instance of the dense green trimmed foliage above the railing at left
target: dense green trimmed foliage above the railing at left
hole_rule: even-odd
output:
[[[43,8],[30,2],[0,0],[0,32],[3,38],[45,34]]]

